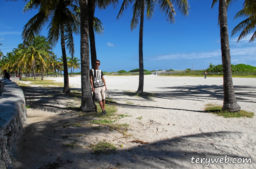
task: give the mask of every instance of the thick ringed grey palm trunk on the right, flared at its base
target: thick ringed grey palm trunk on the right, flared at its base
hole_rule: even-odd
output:
[[[219,0],[220,44],[224,93],[222,110],[235,112],[240,110],[240,106],[236,102],[236,96],[232,81],[226,3],[226,0]]]

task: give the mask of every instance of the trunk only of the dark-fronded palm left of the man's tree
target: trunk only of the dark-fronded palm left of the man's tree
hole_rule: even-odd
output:
[[[70,93],[69,84],[68,84],[68,69],[67,69],[67,55],[66,55],[65,38],[64,38],[64,27],[61,28],[61,50],[62,50],[63,67],[64,67],[63,93]]]

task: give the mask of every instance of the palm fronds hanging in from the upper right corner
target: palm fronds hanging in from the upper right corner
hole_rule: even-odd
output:
[[[249,42],[253,42],[256,38],[256,3],[254,0],[245,0],[243,4],[243,9],[239,11],[234,19],[245,17],[246,19],[240,22],[231,32],[231,36],[236,33],[241,32],[237,40],[240,41],[242,38],[245,38],[248,34],[253,33]]]

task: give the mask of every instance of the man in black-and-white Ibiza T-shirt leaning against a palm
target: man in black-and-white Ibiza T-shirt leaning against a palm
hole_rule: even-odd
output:
[[[101,107],[101,115],[107,114],[105,110],[105,91],[107,90],[106,82],[103,77],[103,72],[99,69],[100,61],[95,61],[95,69],[90,70],[90,78],[92,91],[95,93],[95,99],[99,102]]]

